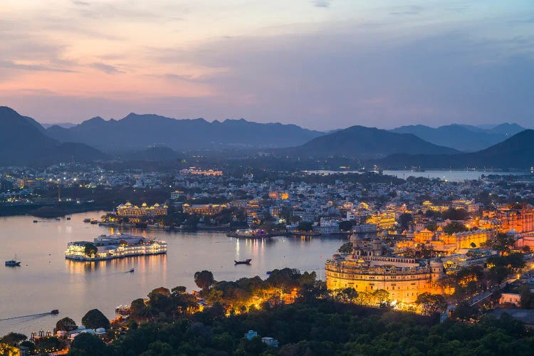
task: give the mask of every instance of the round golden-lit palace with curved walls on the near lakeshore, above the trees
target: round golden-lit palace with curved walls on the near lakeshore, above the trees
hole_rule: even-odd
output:
[[[387,247],[379,239],[352,237],[350,241],[349,255],[336,253],[326,261],[328,289],[354,288],[369,293],[384,289],[391,300],[402,303],[414,303],[417,295],[425,292],[442,292],[436,284],[444,276],[441,260],[387,256]]]

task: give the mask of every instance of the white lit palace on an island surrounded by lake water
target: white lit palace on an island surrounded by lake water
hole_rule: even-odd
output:
[[[85,246],[93,244],[97,251],[88,256]],[[102,235],[90,243],[74,241],[67,244],[65,258],[75,261],[102,261],[130,256],[149,256],[167,253],[167,242],[126,234]]]

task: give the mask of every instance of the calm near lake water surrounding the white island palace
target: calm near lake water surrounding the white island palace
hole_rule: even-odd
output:
[[[167,240],[167,256],[100,262],[66,260],[64,251],[69,241],[93,241],[100,234],[113,232],[82,221],[102,214],[73,214],[70,221],[50,219],[38,224],[32,223],[32,216],[0,218],[0,262],[11,259],[14,253],[22,261],[18,268],[0,266],[0,319],[60,311],[55,316],[0,320],[0,335],[17,331],[29,336],[32,330],[52,330],[56,321],[65,316],[79,324],[93,308],[114,318],[117,305],[146,297],[154,288],[197,288],[193,275],[203,269],[212,271],[219,281],[266,278],[266,271],[286,266],[316,271],[324,278],[325,259],[346,239],[332,236],[246,240],[216,233],[127,231]],[[245,258],[252,258],[251,266],[234,266],[235,259]],[[132,267],[135,273],[126,273]]]

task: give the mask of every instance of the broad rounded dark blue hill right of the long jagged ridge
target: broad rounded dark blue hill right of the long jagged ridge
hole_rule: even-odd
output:
[[[452,154],[458,152],[426,142],[412,134],[400,134],[375,127],[352,126],[315,137],[304,145],[288,149],[299,155],[343,155],[347,157],[384,157],[394,153]]]

